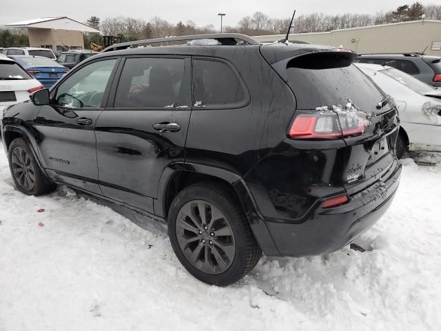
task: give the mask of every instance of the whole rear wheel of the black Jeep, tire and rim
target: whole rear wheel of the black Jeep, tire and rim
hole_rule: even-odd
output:
[[[175,197],[168,234],[183,266],[209,284],[238,281],[262,254],[240,205],[216,183],[189,186]]]

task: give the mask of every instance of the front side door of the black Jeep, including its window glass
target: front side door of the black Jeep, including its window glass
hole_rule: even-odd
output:
[[[94,126],[116,61],[80,68],[52,90],[52,103],[39,110],[35,121],[39,152],[52,179],[101,193]]]

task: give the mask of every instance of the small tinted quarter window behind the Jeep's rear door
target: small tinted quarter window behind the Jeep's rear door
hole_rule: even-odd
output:
[[[235,107],[245,92],[232,68],[218,61],[193,61],[194,106]]]

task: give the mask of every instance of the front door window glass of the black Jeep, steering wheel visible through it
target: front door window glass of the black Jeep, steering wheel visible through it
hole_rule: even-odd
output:
[[[99,108],[116,59],[90,63],[57,89],[55,104],[68,108]]]

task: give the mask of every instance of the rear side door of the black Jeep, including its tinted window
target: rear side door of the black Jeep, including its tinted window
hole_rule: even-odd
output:
[[[161,174],[183,163],[192,110],[190,59],[127,57],[96,122],[103,194],[154,212]]]

